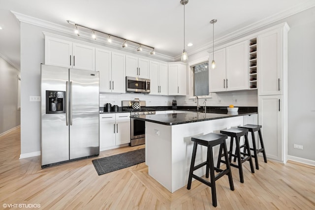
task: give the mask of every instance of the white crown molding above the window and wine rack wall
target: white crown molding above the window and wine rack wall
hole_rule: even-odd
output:
[[[280,20],[283,20],[284,18],[287,18],[287,17],[290,17],[292,15],[295,15],[299,12],[302,12],[304,10],[307,10],[307,9],[310,9],[312,7],[315,6],[315,1],[314,0],[309,0],[308,2],[306,3],[303,3],[303,4],[300,4],[298,6],[295,6],[295,7],[291,7],[290,9],[288,10],[285,10],[284,12],[280,12],[280,13],[277,13],[277,14],[274,14],[272,16],[269,16],[265,19],[262,19],[260,21],[257,21],[251,25],[248,25],[244,28],[241,28],[239,30],[236,30],[236,31],[233,31],[231,33],[228,33],[224,36],[221,36],[217,39],[215,39],[214,43],[218,46],[220,44],[222,44],[223,42],[226,42],[228,40],[231,40],[231,39],[234,39],[236,37],[240,37],[240,36],[244,36],[245,34],[247,33],[250,33],[254,30],[259,30],[267,25],[270,25],[270,24],[273,24],[277,21],[280,21]],[[285,21],[284,21],[285,22]],[[199,47],[198,49],[195,49],[195,50],[192,50],[192,51],[189,51],[189,55],[193,55],[193,54],[196,54],[196,53],[199,53],[201,51],[204,51],[204,50],[207,50],[209,49],[210,47],[212,47],[213,45],[213,42],[210,41],[206,44],[204,44],[203,46]],[[180,58],[181,55],[179,56],[176,56],[175,58],[178,59]]]

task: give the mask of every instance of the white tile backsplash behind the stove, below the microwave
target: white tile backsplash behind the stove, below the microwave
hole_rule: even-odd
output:
[[[139,98],[146,101],[147,106],[172,106],[174,96],[149,95],[143,93],[124,93],[124,94],[99,94],[99,106],[103,107],[106,103],[122,106],[123,100],[134,100]]]

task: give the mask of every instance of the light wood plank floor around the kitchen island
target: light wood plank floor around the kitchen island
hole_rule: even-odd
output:
[[[99,157],[143,147],[107,150]],[[0,137],[0,209],[5,204],[39,204],[41,210],[315,210],[315,167],[291,161],[266,164],[260,159],[254,174],[247,163],[244,183],[232,168],[235,190],[229,189],[227,176],[219,179],[214,208],[210,187],[193,181],[190,190],[183,187],[172,194],[148,175],[144,163],[98,176],[93,158],[41,169],[40,156],[19,155],[16,129]]]

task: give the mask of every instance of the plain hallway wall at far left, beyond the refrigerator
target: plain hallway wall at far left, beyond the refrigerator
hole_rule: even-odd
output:
[[[20,125],[18,77],[20,71],[0,57],[0,135]]]

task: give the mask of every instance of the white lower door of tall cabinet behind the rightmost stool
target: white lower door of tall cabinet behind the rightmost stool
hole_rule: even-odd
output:
[[[283,96],[258,96],[258,124],[268,158],[284,161]]]

